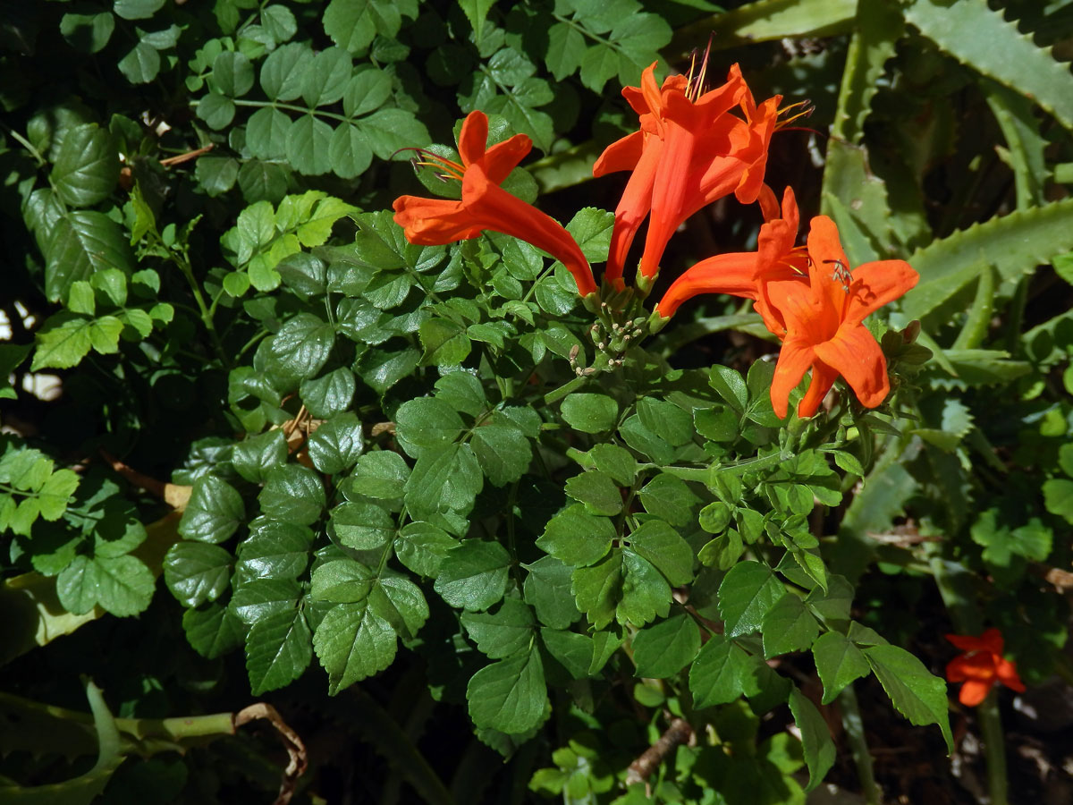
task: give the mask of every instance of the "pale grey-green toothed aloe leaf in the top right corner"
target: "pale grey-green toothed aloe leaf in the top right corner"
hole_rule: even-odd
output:
[[[986,0],[914,0],[906,21],[958,61],[1032,99],[1073,129],[1073,75]]]

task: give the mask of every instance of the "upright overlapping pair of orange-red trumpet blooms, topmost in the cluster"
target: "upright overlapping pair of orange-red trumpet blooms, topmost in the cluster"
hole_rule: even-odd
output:
[[[730,193],[743,204],[756,200],[781,100],[758,107],[737,64],[725,84],[703,94],[703,75],[695,83],[672,75],[659,87],[655,69],[644,71],[640,88],[622,90],[641,130],[609,145],[592,169],[593,176],[633,172],[615,210],[605,270],[619,287],[627,252],[649,214],[641,275],[651,279],[671,236],[693,213]],[[734,106],[744,120],[730,114]]]

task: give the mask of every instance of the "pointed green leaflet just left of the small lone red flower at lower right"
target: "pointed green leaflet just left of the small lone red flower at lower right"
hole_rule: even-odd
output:
[[[910,723],[939,724],[947,751],[954,751],[946,683],[928,673],[924,663],[905,648],[869,646],[863,654],[883,690],[891,697],[895,709],[908,718]]]

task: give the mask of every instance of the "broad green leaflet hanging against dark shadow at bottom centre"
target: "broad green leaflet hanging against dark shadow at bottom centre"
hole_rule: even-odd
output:
[[[477,728],[520,733],[544,720],[547,688],[540,650],[482,668],[466,686],[469,714]]]

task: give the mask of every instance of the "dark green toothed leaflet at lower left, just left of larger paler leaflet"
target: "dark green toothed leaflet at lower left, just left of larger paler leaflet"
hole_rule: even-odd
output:
[[[246,635],[250,692],[261,696],[297,679],[313,658],[312,634],[302,610],[259,619]]]

